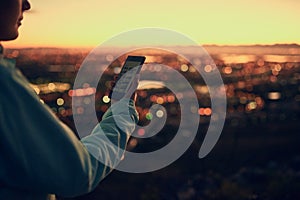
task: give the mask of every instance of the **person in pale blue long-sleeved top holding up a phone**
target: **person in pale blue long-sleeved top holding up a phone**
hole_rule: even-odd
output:
[[[27,0],[0,0],[0,41],[16,39]],[[12,60],[0,58],[0,199],[74,197],[92,191],[123,154],[137,121],[132,84],[126,98],[113,104],[91,135],[79,141],[40,102]],[[128,103],[129,102],[129,103]],[[130,119],[126,114],[130,111]],[[119,124],[119,123],[118,123]],[[105,131],[103,131],[105,130]],[[105,142],[109,138],[115,145]],[[94,158],[89,152],[98,152]]]

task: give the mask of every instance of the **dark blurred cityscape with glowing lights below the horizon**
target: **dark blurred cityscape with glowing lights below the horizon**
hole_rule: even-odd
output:
[[[179,47],[177,47],[179,48]],[[177,70],[194,89],[200,128],[188,151],[165,169],[146,174],[113,172],[91,194],[77,199],[297,199],[300,198],[300,46],[205,46],[214,63],[203,60],[195,47],[186,48],[192,62],[206,73],[219,70],[227,96],[224,129],[214,150],[197,157],[212,115],[209,88],[196,68],[184,58],[159,49],[131,52],[147,57],[141,72],[137,109],[140,125],[167,116],[161,131],[151,138],[133,137],[128,149],[148,152],[166,145],[180,123],[180,98],[164,80],[163,64]],[[54,113],[76,133],[73,114],[88,112],[95,98],[99,120],[110,106],[108,91],[126,55],[116,57],[107,49],[110,62],[98,87],[86,82],[73,88],[76,74],[91,49],[7,49],[6,55],[32,83],[33,89]],[[170,75],[170,76],[169,76]],[[156,78],[155,78],[156,77]],[[150,80],[150,78],[152,78]],[[180,87],[180,86],[178,86]],[[72,97],[78,105],[72,110]],[[74,102],[73,102],[74,103]],[[150,111],[152,104],[165,110]],[[136,135],[144,136],[143,128]]]

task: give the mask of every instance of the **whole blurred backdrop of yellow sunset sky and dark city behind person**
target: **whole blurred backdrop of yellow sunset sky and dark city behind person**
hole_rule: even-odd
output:
[[[208,156],[198,158],[212,115],[210,94],[195,67],[183,58],[160,50],[135,52],[147,57],[145,74],[161,74],[156,64],[176,69],[191,84],[199,107],[197,136],[189,149],[170,166],[143,174],[114,171],[94,192],[76,200],[97,199],[299,199],[300,198],[300,29],[296,0],[170,0],[37,1],[25,14],[20,37],[5,42],[5,54],[32,83],[40,98],[75,134],[72,97],[82,105],[96,98],[97,117],[110,106],[110,81],[124,59],[107,49],[111,62],[98,87],[85,83],[73,88],[80,66],[97,45],[120,32],[163,27],[203,45],[217,69],[181,45],[206,73],[219,70],[227,96],[222,135]],[[144,42],[147,41],[145,38]],[[126,41],[135,45],[137,41]],[[165,45],[161,41],[161,45]],[[170,45],[170,44],[168,44]],[[99,63],[101,65],[101,63]],[[165,80],[168,80],[168,76]],[[144,82],[145,83],[145,82]],[[147,82],[138,91],[140,125],[167,116],[162,130],[147,139],[133,137],[128,150],[148,152],[168,144],[180,123],[178,98],[164,84]],[[150,86],[149,86],[150,85]],[[151,113],[152,104],[165,107]],[[143,136],[145,130],[137,130]],[[61,198],[63,199],[63,198]]]

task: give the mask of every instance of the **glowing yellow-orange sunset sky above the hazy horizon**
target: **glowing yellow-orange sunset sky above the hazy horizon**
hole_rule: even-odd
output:
[[[160,27],[199,44],[300,44],[298,0],[31,0],[8,47],[95,47],[124,31]],[[146,40],[146,36],[145,36]]]

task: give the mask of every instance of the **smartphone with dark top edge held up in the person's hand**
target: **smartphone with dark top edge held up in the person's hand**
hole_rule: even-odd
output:
[[[129,55],[127,57],[117,77],[116,84],[110,92],[110,98],[120,100],[124,97],[136,74],[140,73],[145,60],[146,57],[144,56]]]

